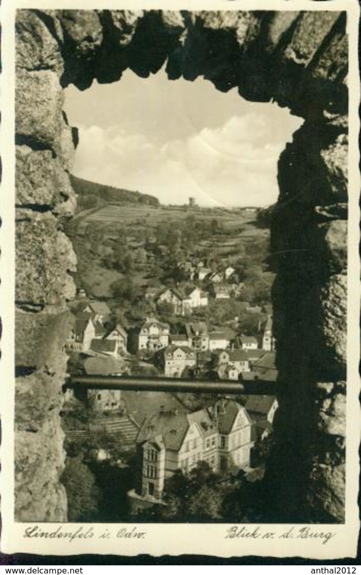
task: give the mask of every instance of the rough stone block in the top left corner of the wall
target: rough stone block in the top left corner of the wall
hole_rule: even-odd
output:
[[[59,43],[33,10],[17,10],[16,65],[27,70],[54,70],[62,74]]]

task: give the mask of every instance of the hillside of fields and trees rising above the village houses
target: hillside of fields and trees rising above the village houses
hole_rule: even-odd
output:
[[[86,190],[93,189],[89,184]],[[247,301],[269,300],[270,231],[259,225],[257,210],[156,202],[114,205],[102,200],[93,209],[78,212],[67,233],[78,256],[79,288],[114,306],[121,301],[125,308],[126,300],[130,308],[140,309],[145,286],[185,281],[182,263],[203,262],[212,269],[231,265],[240,281],[256,285],[256,292],[244,292]]]

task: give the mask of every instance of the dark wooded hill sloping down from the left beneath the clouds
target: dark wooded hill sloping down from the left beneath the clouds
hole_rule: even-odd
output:
[[[143,204],[158,206],[159,200],[149,194],[139,191],[124,190],[101,183],[89,182],[85,179],[70,176],[72,187],[78,194],[78,212],[84,209],[96,208],[101,204]]]

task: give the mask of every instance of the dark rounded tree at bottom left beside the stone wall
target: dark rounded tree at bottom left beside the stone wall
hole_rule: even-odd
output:
[[[97,520],[100,491],[95,477],[82,457],[67,458],[62,475],[68,499],[68,520],[71,522]]]

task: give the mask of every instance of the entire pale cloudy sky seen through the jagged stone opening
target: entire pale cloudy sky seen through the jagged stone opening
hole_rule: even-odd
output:
[[[276,104],[247,102],[198,78],[142,79],[66,90],[64,109],[79,128],[73,173],[137,190],[162,204],[266,206],[278,196],[279,154],[301,118]]]

